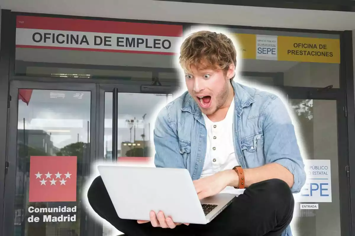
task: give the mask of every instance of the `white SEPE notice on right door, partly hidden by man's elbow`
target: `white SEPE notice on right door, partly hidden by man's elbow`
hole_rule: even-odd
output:
[[[304,160],[307,179],[299,202],[332,202],[331,161]]]

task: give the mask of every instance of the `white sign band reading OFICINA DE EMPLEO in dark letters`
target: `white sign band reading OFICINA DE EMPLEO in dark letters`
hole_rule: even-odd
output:
[[[57,47],[176,53],[179,37],[81,31],[16,29],[17,47]]]

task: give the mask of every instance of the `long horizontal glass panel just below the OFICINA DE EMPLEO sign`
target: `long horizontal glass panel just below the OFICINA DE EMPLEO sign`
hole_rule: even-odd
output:
[[[153,71],[175,71],[173,56],[163,54],[16,48],[15,74],[150,82]],[[162,77],[161,81],[177,81]]]

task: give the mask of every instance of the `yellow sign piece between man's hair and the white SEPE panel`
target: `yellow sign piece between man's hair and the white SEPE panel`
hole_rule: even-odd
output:
[[[256,59],[256,35],[255,34],[234,34],[240,48],[241,58]]]

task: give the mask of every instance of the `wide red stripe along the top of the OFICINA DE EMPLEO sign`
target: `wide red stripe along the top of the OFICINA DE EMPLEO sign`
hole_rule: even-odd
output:
[[[112,34],[182,36],[182,25],[94,21],[37,16],[17,16],[16,28],[82,31]]]

